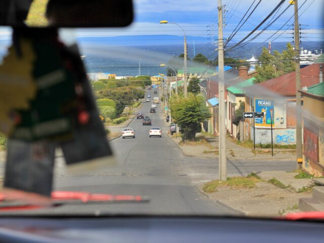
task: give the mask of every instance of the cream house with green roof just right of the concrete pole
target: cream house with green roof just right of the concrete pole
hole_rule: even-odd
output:
[[[238,133],[238,126],[235,126],[232,123],[234,111],[239,107],[239,102],[245,102],[245,93],[243,88],[248,88],[253,86],[254,77],[244,80],[240,83],[237,83],[233,86],[227,88],[227,132],[236,138]]]

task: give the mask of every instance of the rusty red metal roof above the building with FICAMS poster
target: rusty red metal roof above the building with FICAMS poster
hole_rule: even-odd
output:
[[[300,69],[301,87],[309,87],[319,83],[319,65],[319,63],[314,63]],[[277,95],[296,96],[296,72],[266,80],[255,86],[262,88],[258,89],[258,95],[268,95],[269,92],[273,92]],[[243,88],[243,90],[250,94],[249,89]],[[254,94],[251,93],[250,95]]]

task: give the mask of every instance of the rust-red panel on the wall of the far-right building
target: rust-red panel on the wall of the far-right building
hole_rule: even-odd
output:
[[[304,128],[304,155],[318,161],[318,135]]]

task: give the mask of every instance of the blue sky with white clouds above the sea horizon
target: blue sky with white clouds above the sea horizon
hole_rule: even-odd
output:
[[[259,1],[260,0],[222,1],[222,4],[225,6],[224,19],[226,22],[224,38],[227,38],[232,33],[252,3],[254,4],[251,10]],[[245,37],[279,2],[279,0],[261,0],[255,12],[235,34],[232,41],[238,42],[241,38]],[[324,0],[299,0],[298,5],[300,7],[299,23],[302,24],[301,36],[304,38],[304,41],[324,41],[324,21],[322,14],[324,12]],[[275,12],[274,19],[288,6],[289,0],[286,0],[278,12]],[[293,27],[289,25],[294,21],[293,8],[294,6],[289,7],[288,10],[282,14],[273,25],[256,38],[254,42],[265,41],[282,26],[284,26],[282,30],[275,33],[273,37],[270,38],[270,41],[291,41]],[[194,38],[191,37],[191,39],[195,40],[196,44],[211,43],[217,34],[217,0],[134,0],[134,9],[135,19],[133,24],[129,27],[77,29],[76,36],[87,38],[141,35],[144,36],[141,38],[145,38],[146,35],[183,35],[181,28],[177,25],[159,24],[160,20],[178,23],[182,26],[187,36],[195,36]],[[265,24],[267,24],[269,20],[266,21]],[[262,26],[260,30],[261,29]],[[279,34],[281,35],[278,37]],[[2,39],[7,39],[9,35],[10,29],[0,29],[0,41]],[[161,38],[160,42],[163,44],[163,38]],[[170,41],[168,41],[168,43],[170,44]]]

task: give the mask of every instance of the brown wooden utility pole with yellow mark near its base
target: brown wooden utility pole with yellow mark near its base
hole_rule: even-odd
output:
[[[300,59],[299,59],[299,24],[298,24],[298,1],[294,1],[295,5],[295,55],[296,55],[296,168],[300,169],[303,162],[303,147],[302,147],[302,105],[300,90]]]

